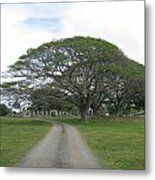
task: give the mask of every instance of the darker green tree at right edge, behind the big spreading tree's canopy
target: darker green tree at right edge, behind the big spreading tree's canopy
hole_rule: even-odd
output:
[[[144,66],[132,60],[126,60],[127,65],[112,65],[108,69],[109,83],[105,87],[105,96],[109,100],[110,109],[118,116],[127,112],[131,106],[143,110],[145,106]]]

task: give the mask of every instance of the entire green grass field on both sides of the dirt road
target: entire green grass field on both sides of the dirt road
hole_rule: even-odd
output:
[[[144,162],[144,118],[53,118],[78,128],[104,169],[140,169]],[[36,119],[1,119],[1,166],[13,166],[51,123]]]

